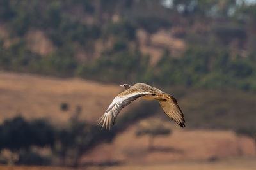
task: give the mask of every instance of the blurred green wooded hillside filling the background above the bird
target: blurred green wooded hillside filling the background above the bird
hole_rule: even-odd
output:
[[[3,0],[0,20],[8,28],[9,39],[16,39],[8,46],[6,40],[0,41],[0,66],[104,82],[145,81],[256,92],[253,9],[253,4],[220,0],[173,1],[170,8],[162,1]],[[198,23],[199,29],[194,30]],[[173,57],[172,52],[163,51],[159,62],[150,64],[150,56],[140,52],[136,31],[147,31],[150,45],[155,32],[180,26],[188,44],[184,53]],[[44,31],[56,46],[54,52],[46,56],[31,52],[26,39],[31,29]],[[93,57],[98,39],[103,40],[104,49]],[[77,46],[90,60],[77,59]]]

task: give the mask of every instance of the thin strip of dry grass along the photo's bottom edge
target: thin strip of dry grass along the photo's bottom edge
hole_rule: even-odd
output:
[[[214,162],[206,161],[189,161],[189,162],[169,162],[165,164],[125,164],[122,166],[111,166],[111,167],[84,167],[79,169],[86,170],[169,170],[169,169],[179,169],[179,170],[215,170],[215,169],[225,169],[225,170],[254,170],[256,169],[256,158],[234,158],[234,159],[224,159]],[[1,170],[10,170],[8,166],[0,166]],[[61,168],[61,167],[44,167],[44,166],[14,166],[13,170],[75,170],[73,168]]]

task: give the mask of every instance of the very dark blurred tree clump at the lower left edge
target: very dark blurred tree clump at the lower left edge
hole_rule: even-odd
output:
[[[32,146],[53,148],[55,134],[55,129],[45,120],[27,122],[19,116],[5,120],[0,125],[0,151],[8,149],[18,154],[15,162],[17,164],[51,164],[51,159],[33,152],[31,148]]]

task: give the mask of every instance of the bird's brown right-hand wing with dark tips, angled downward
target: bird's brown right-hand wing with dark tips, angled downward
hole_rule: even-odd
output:
[[[156,94],[156,96],[161,97],[161,99],[164,99],[159,100],[159,103],[163,108],[164,113],[166,113],[168,117],[172,118],[175,122],[177,122],[177,124],[179,124],[180,127],[185,127],[184,115],[180,110],[177,100],[170,94]]]

